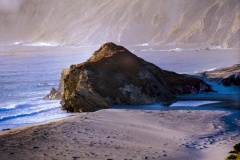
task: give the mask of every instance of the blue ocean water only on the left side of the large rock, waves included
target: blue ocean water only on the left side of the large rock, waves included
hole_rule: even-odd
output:
[[[61,110],[59,100],[43,97],[52,87],[57,88],[63,68],[83,62],[89,56],[81,49],[1,51],[0,129],[69,116]]]

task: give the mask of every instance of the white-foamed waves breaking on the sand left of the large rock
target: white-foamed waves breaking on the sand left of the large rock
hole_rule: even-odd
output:
[[[0,129],[70,116],[71,114],[61,110],[59,102],[59,100],[46,101],[38,98],[2,107],[0,108]]]

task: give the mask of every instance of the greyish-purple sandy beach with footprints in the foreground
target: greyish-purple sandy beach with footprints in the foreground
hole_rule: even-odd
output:
[[[80,113],[2,131],[0,159],[221,160],[240,140],[226,123],[229,115],[216,110]]]

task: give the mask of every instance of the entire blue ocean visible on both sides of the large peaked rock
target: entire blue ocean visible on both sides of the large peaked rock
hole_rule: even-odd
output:
[[[44,100],[43,97],[52,87],[57,88],[63,68],[86,61],[98,47],[1,47],[0,130],[72,115],[61,110],[59,100]],[[236,57],[239,56],[237,51],[226,56],[223,50],[209,53],[138,51],[131,47],[130,50],[163,69],[190,74],[232,65],[238,62]]]

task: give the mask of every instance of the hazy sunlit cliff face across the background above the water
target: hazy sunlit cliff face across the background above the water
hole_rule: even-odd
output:
[[[0,42],[240,46],[239,0],[0,2]]]

